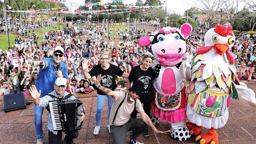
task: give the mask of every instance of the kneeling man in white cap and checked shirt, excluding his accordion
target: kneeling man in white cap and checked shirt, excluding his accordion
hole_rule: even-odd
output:
[[[49,101],[52,100],[76,100],[75,96],[68,97],[68,92],[65,91],[67,88],[67,80],[63,77],[58,77],[54,84],[54,91],[50,92],[48,95],[45,95],[44,97],[40,98],[41,90],[39,92],[36,89],[35,85],[32,85],[29,89],[29,92],[31,93],[32,98],[34,99],[34,104],[36,107],[47,107],[49,104]],[[51,95],[51,96],[50,96]],[[66,98],[66,96],[68,98]],[[79,121],[83,121],[85,114],[84,112],[81,113],[82,116],[79,116]],[[49,144],[60,144],[61,143],[61,137],[62,137],[62,131],[54,131],[53,130],[53,124],[52,124],[52,118],[51,113],[48,112],[48,118],[47,118],[47,128],[48,128],[48,140]],[[73,139],[77,138],[78,136],[78,130],[75,131],[69,131],[66,132],[66,135],[64,137],[64,141],[68,144],[75,144]]]

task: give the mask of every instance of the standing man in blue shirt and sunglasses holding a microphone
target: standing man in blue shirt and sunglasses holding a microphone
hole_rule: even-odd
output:
[[[63,48],[61,46],[57,46],[54,49],[53,58],[46,58],[37,62],[40,69],[36,81],[36,88],[41,90],[40,98],[52,92],[54,87],[53,85],[57,77],[66,78],[67,85],[69,85],[68,68],[67,65],[61,61],[63,55]],[[43,144],[42,115],[44,108],[36,106],[34,108],[37,144]]]

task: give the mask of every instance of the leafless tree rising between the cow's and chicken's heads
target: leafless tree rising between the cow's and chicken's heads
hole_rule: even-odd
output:
[[[214,18],[219,14],[220,7],[223,4],[223,1],[220,0],[196,0],[196,5],[194,8],[202,11],[207,15],[207,20],[209,25],[211,26]]]

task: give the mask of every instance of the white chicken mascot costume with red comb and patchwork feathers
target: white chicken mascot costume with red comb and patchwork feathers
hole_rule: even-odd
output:
[[[205,46],[196,51],[191,63],[184,61],[180,74],[188,93],[187,127],[190,134],[198,135],[203,128],[208,132],[196,137],[200,144],[219,144],[218,128],[228,121],[230,100],[239,99],[244,107],[256,106],[255,93],[239,83],[230,52],[235,36],[232,27],[215,25],[204,36]]]

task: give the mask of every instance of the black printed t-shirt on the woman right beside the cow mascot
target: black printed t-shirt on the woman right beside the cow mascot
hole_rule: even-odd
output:
[[[142,96],[140,96],[139,98],[141,103],[147,103],[154,99],[152,83],[154,78],[154,70],[151,67],[148,68],[148,70],[142,70],[140,66],[132,68],[128,79],[131,82],[134,82],[135,80],[140,80],[144,83],[144,89],[141,90]]]

